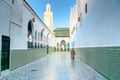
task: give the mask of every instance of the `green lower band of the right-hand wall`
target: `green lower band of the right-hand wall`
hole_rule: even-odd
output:
[[[77,48],[76,56],[109,80],[120,80],[120,47]]]

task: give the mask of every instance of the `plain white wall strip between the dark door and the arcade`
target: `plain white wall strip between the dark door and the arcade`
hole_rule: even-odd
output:
[[[15,0],[11,10],[10,20],[10,48],[22,49],[22,15],[23,15],[23,0]]]

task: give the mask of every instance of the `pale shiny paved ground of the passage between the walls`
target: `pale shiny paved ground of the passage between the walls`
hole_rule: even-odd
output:
[[[0,80],[106,80],[69,52],[54,53],[11,71]]]

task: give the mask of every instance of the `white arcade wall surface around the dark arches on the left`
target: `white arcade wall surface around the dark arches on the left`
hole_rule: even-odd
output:
[[[50,30],[46,27],[46,25],[38,18],[38,16],[36,16],[32,10],[30,10],[30,8],[24,4],[24,13],[23,13],[23,26],[24,26],[24,31],[25,33],[24,34],[27,34],[27,28],[28,28],[28,22],[30,20],[32,20],[32,18],[34,17],[35,18],[35,22],[33,22],[33,27],[34,27],[34,37],[35,37],[35,31],[37,31],[37,35],[38,33],[41,34],[41,31],[44,29],[44,32],[43,32],[43,40],[42,41],[38,41],[38,38],[37,38],[37,42],[39,43],[42,43],[43,45],[47,45],[47,34],[48,33],[51,33]],[[25,41],[27,41],[27,35],[24,35],[25,38]],[[34,39],[34,43],[35,43],[35,39]]]

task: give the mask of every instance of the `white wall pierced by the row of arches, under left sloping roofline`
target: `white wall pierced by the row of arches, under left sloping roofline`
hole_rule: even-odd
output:
[[[40,18],[38,18],[38,16],[35,13],[33,13],[33,11],[30,9],[30,7],[28,5],[26,5],[26,3],[24,3],[23,5],[24,6],[23,6],[23,30],[22,31],[23,31],[23,37],[25,37],[24,44],[27,42],[28,22],[30,20],[32,20],[33,18],[35,18],[35,22],[33,22],[33,31],[34,31],[33,32],[33,43],[37,42],[37,43],[40,43],[43,45],[50,44],[49,42],[51,42],[51,41],[47,40],[48,33],[50,33],[50,35],[51,35],[50,30],[48,30],[48,28],[42,22],[42,20]],[[40,35],[41,35],[41,31],[43,29],[44,29],[43,37],[41,40],[40,36],[38,38],[38,33],[40,33]],[[35,40],[35,31],[37,31],[37,40]],[[40,39],[40,40],[38,40],[38,39]]]

